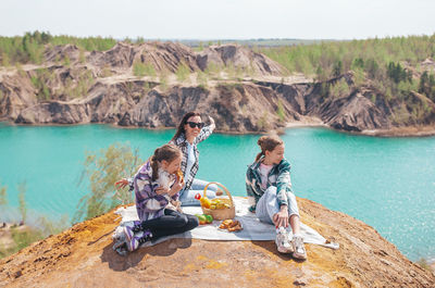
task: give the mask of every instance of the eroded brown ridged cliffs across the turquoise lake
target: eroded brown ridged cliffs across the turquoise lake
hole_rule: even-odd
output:
[[[235,45],[201,52],[162,42],[120,42],[103,52],[67,45],[47,48],[45,58],[40,66],[0,70],[0,121],[159,128],[175,127],[183,114],[197,110],[213,116],[225,133],[261,133],[289,123],[374,134],[435,130],[435,103],[423,95],[412,92],[408,104],[386,101],[370,82],[357,87],[352,72],[324,83],[296,82],[283,76],[279,64]],[[150,76],[134,76],[136,64]],[[189,74],[183,80],[182,66]],[[213,67],[221,72],[207,74]],[[343,83],[348,90],[325,92]],[[424,108],[420,114],[417,107]]]

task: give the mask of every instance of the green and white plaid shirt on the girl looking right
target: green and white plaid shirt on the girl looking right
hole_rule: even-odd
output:
[[[250,208],[251,211],[256,210],[258,201],[265,191],[261,188],[260,177],[260,163],[263,159],[264,158],[261,158],[259,161],[250,164],[246,172],[246,190],[248,197],[253,197],[256,200],[256,204]],[[293,193],[293,191],[290,181],[290,163],[288,163],[286,159],[283,159],[279,164],[274,165],[269,172],[266,189],[270,186],[276,187],[278,205],[288,205],[287,195]]]

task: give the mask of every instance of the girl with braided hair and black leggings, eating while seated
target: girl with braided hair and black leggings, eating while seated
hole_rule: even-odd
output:
[[[191,230],[198,218],[174,208],[178,191],[184,186],[183,177],[176,177],[182,162],[182,152],[174,145],[156,149],[154,154],[137,172],[133,179],[136,210],[139,221],[124,226],[129,251],[141,243]]]

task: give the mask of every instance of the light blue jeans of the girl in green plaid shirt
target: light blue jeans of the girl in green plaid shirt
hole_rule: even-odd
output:
[[[288,217],[291,215],[299,216],[298,203],[296,202],[296,197],[293,192],[287,192],[288,198]],[[256,215],[264,223],[273,224],[273,215],[279,212],[278,200],[276,198],[276,187],[269,187],[263,196],[257,203]]]

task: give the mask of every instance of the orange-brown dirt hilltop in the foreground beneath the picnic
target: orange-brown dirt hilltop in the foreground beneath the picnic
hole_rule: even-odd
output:
[[[406,259],[375,229],[298,199],[301,220],[338,250],[307,245],[308,261],[274,241],[172,239],[127,256],[112,250],[112,212],[0,260],[7,287],[434,287],[435,275]]]

